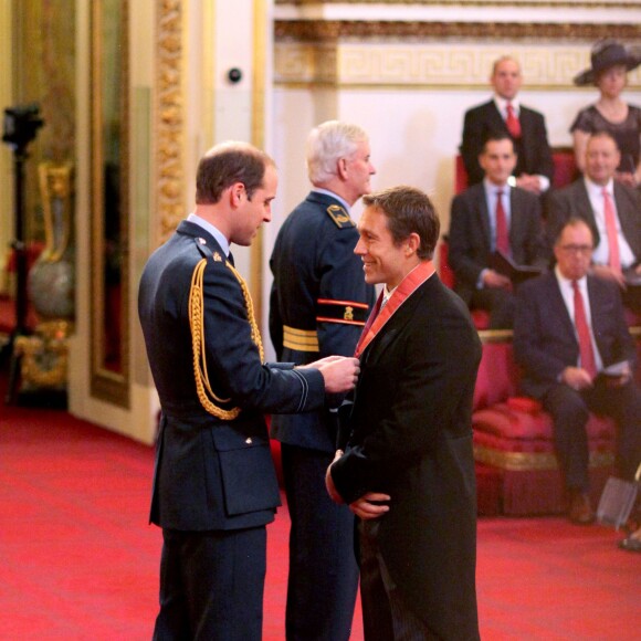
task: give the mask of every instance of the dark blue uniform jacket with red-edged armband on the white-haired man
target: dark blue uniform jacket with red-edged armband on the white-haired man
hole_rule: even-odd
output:
[[[354,253],[358,232],[340,201],[311,192],[283,223],[270,266],[274,275],[270,334],[279,360],[298,365],[330,355],[354,356],[375,303],[362,262]],[[287,326],[302,336],[292,341]],[[316,334],[316,346],[309,337]],[[328,410],[274,417],[272,437],[303,448],[334,452],[336,423]]]

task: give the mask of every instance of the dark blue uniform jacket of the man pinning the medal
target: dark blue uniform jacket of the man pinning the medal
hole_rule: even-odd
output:
[[[203,336],[213,393],[238,418],[208,413],[197,395],[189,297],[203,273]],[[162,408],[151,500],[153,523],[180,530],[269,523],[280,505],[263,414],[324,406],[323,377],[292,364],[264,365],[251,336],[241,285],[216,242],[183,221],[145,266],[138,312]]]

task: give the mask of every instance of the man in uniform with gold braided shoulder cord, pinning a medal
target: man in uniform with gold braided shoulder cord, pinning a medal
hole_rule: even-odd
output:
[[[162,527],[155,639],[261,639],[265,524],[280,504],[264,412],[324,407],[356,359],[264,365],[230,244],[271,220],[276,169],[241,143],[211,149],[196,210],[156,250],[138,311],[162,409],[150,521]]]

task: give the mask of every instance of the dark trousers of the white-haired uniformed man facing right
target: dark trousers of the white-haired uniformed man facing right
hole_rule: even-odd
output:
[[[347,641],[358,589],[354,515],[325,488],[333,454],[281,446],[290,530],[288,641]]]

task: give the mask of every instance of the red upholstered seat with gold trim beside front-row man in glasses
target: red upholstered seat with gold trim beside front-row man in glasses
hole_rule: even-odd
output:
[[[551,418],[537,401],[516,396],[517,387],[512,344],[485,344],[474,393],[474,459],[485,473],[494,470],[498,475],[496,511],[508,515],[564,512],[566,496],[555,455]],[[596,505],[612,472],[616,429],[610,419],[593,414],[587,429]],[[487,503],[481,494],[481,483],[479,491],[480,505]]]

